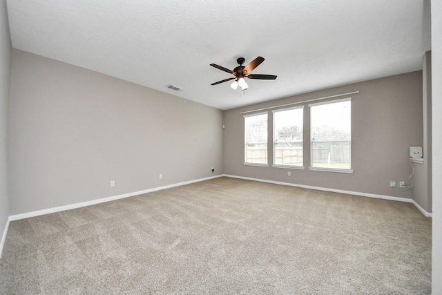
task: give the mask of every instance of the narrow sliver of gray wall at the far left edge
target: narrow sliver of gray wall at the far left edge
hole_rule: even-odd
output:
[[[0,239],[9,216],[7,131],[10,64],[11,41],[6,1],[0,0]]]

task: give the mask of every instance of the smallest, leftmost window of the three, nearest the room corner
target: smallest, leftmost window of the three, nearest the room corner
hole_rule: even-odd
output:
[[[244,116],[244,162],[267,166],[267,113]]]

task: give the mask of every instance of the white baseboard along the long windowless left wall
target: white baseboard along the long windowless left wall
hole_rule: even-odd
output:
[[[111,197],[107,197],[107,198],[90,200],[90,201],[86,201],[86,202],[79,202],[79,203],[75,203],[75,204],[69,204],[69,205],[61,206],[61,207],[55,207],[55,208],[49,208],[49,209],[44,209],[44,210],[39,210],[39,211],[32,211],[32,212],[27,212],[27,213],[11,215],[11,216],[9,216],[9,220],[10,221],[19,220],[19,219],[49,214],[49,213],[56,213],[56,212],[60,212],[60,211],[66,211],[66,210],[70,210],[70,209],[86,207],[86,206],[90,206],[90,205],[94,205],[94,204],[99,204],[99,203],[129,198],[129,197],[133,197],[133,196],[138,196],[138,195],[142,195],[143,193],[151,193],[153,191],[161,191],[162,189],[171,189],[172,187],[180,187],[180,186],[186,185],[186,184],[201,182],[204,180],[211,180],[213,178],[220,178],[222,176],[224,176],[224,175],[215,175],[215,176],[211,176],[208,178],[200,178],[197,180],[190,180],[190,181],[186,181],[186,182],[179,182],[179,183],[175,183],[175,184],[164,185],[163,187],[154,187],[153,189],[145,189],[144,191],[134,191],[133,193],[124,193],[124,194],[118,195],[118,196],[111,196]]]

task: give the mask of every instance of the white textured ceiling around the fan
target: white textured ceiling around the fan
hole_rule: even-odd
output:
[[[12,46],[220,109],[422,68],[426,0],[9,0]],[[233,69],[262,56],[233,91]],[[172,91],[172,84],[182,91]]]

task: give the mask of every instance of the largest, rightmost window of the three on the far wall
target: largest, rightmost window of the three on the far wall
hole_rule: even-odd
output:
[[[350,98],[309,104],[311,170],[351,169],[351,106]]]

